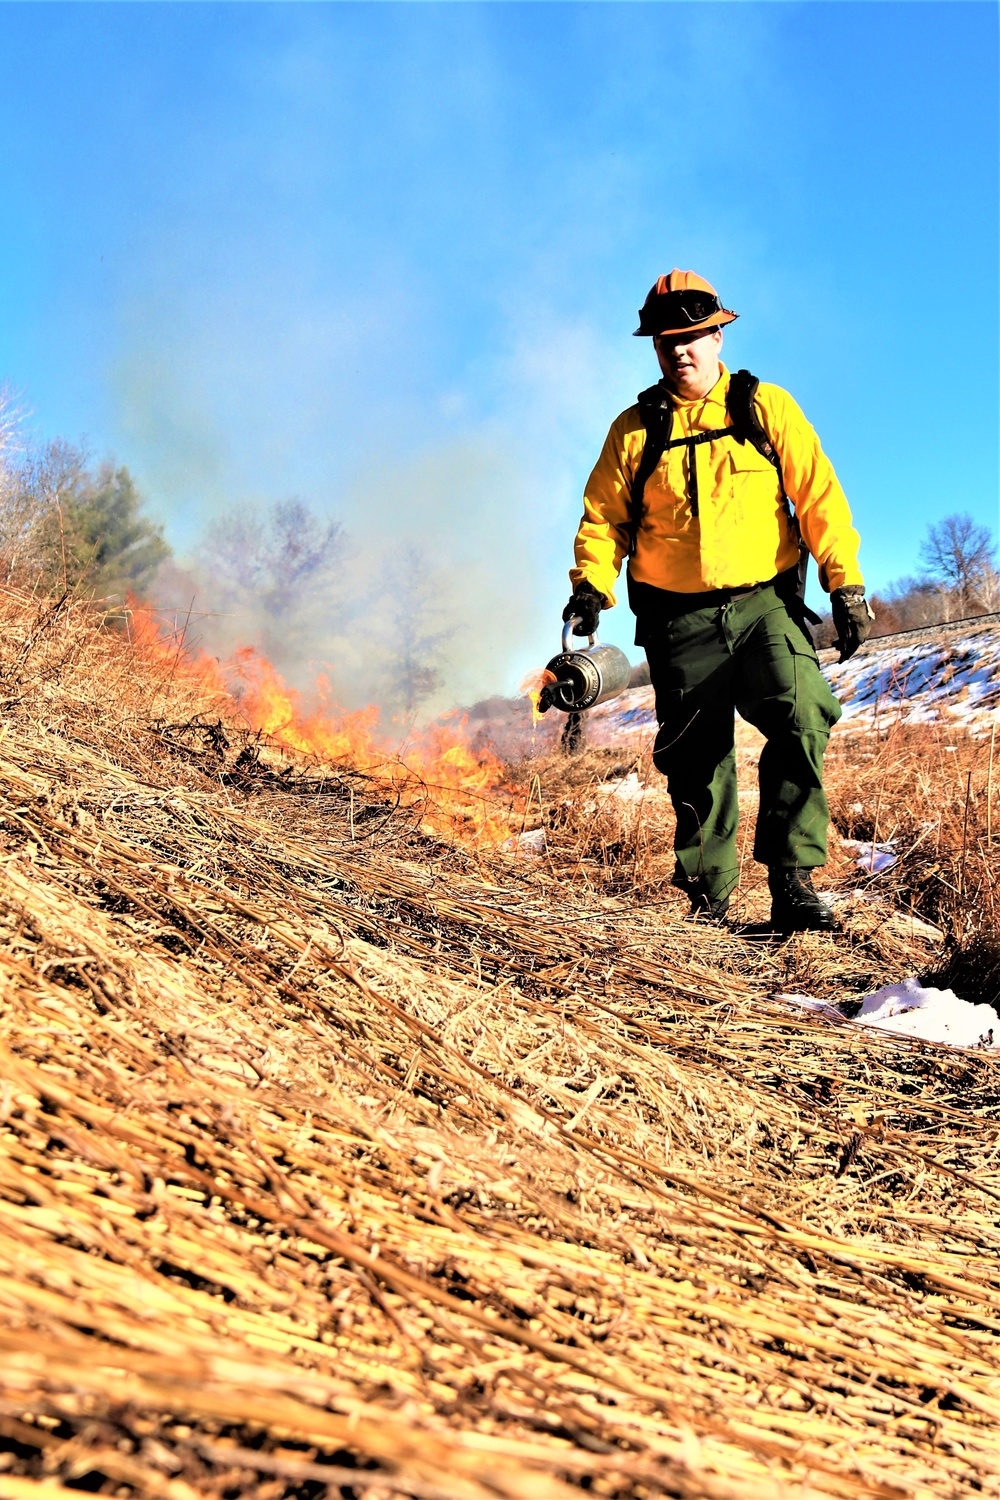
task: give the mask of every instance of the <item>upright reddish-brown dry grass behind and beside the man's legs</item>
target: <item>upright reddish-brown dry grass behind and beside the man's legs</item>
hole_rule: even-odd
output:
[[[736,916],[766,915],[765,873],[753,864],[756,765],[763,744],[738,723],[736,750],[744,818],[739,830],[741,882]],[[649,746],[639,752],[588,748],[577,756],[546,754],[513,765],[532,786],[529,826],[544,826],[546,846],[561,873],[594,891],[630,891],[670,898],[673,816],[666,783],[652,768]],[[628,796],[633,778],[642,802]],[[993,794],[990,790],[993,782]],[[942,927],[952,945],[976,951],[1000,940],[1000,747],[994,735],[955,723],[909,723],[900,708],[874,722],[841,726],[826,758],[832,828],[831,858],[820,878],[834,890],[891,903],[897,912]],[[996,806],[994,806],[996,804]],[[892,844],[892,872],[858,870],[858,852],[841,838]],[[687,908],[681,897],[678,915]],[[1000,996],[1000,982],[993,998]]]

